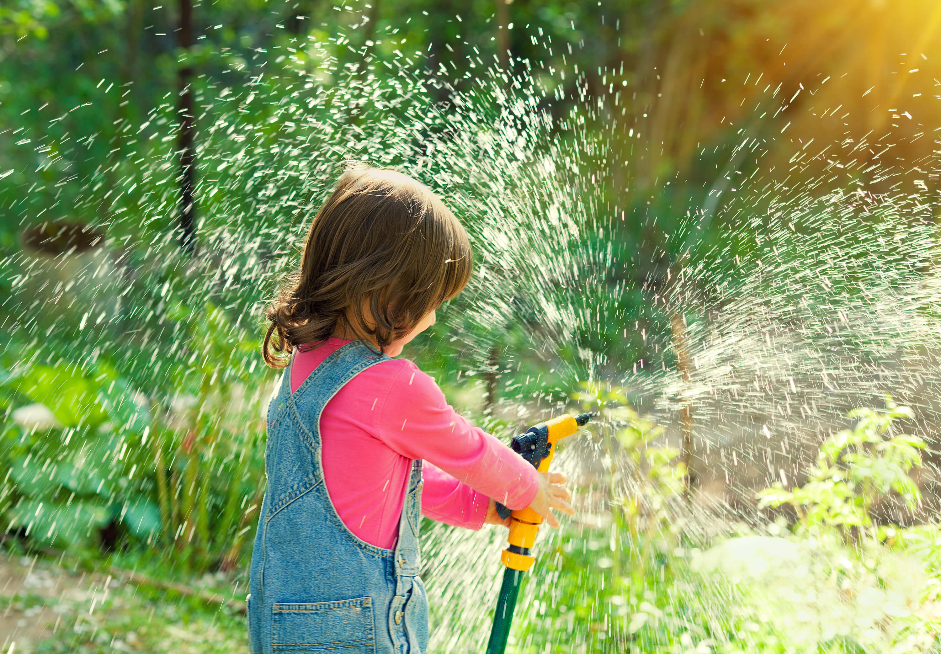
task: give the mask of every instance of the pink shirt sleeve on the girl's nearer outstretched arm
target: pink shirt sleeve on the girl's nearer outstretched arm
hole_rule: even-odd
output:
[[[533,466],[499,439],[470,426],[467,419],[448,405],[435,380],[414,363],[398,360],[407,365],[402,366],[382,405],[377,424],[379,439],[394,452],[424,459],[456,481],[511,509],[529,506],[539,489]],[[433,486],[441,486],[433,491],[439,499],[441,493],[456,494],[437,504],[447,507],[444,521],[463,522],[465,517],[474,515],[471,505],[474,500],[466,490],[453,487],[448,491],[444,480],[439,482],[435,473],[431,477],[435,478]]]

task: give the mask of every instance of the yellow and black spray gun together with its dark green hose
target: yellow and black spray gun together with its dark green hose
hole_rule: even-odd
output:
[[[514,452],[532,463],[537,471],[548,472],[552,456],[555,455],[555,444],[574,434],[579,427],[597,415],[580,413],[573,417],[566,413],[548,423],[530,427],[525,434],[514,438],[510,445]],[[503,654],[506,648],[506,639],[510,635],[510,625],[513,622],[513,610],[517,605],[519,585],[523,572],[532,567],[535,561],[530,549],[535,543],[535,534],[538,533],[539,524],[542,522],[542,516],[529,507],[511,511],[498,503],[497,514],[501,518],[510,518],[510,534],[506,537],[510,545],[500,554],[500,560],[506,569],[503,570],[503,583],[500,587],[500,597],[497,598],[497,610],[493,614],[493,628],[490,630],[486,654]]]

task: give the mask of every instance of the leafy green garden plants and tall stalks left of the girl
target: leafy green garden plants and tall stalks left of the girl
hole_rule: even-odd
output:
[[[169,313],[191,352],[167,370],[172,394],[138,389],[120,359],[83,371],[21,350],[0,371],[8,530],[81,550],[113,523],[136,547],[175,544],[183,554],[168,553],[198,570],[236,565],[263,493],[266,369],[249,363],[252,336],[212,303]]]

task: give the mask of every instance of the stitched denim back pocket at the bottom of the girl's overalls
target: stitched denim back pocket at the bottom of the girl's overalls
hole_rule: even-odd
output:
[[[271,650],[374,654],[373,599],[276,603],[272,607]]]

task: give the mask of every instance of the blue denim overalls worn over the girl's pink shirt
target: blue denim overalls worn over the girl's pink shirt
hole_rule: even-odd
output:
[[[320,414],[343,385],[388,360],[343,345],[291,392],[291,367],[268,406],[268,486],[251,555],[252,654],[421,654],[428,603],[419,578],[422,461],[413,461],[395,550],[346,528],[327,494]],[[348,465],[357,466],[355,453]]]

